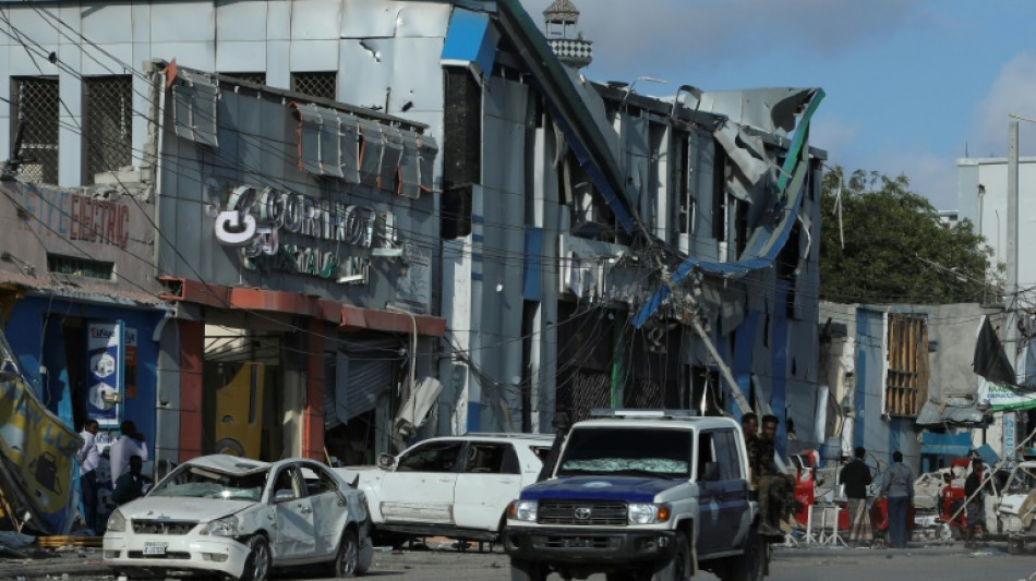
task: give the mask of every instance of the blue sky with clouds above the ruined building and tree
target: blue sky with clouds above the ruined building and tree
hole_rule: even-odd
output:
[[[521,0],[535,22],[552,0]],[[829,166],[904,174],[957,208],[956,160],[1004,157],[1008,113],[1036,155],[1036,1],[573,0],[593,81],[672,97],[821,87],[810,144]]]

